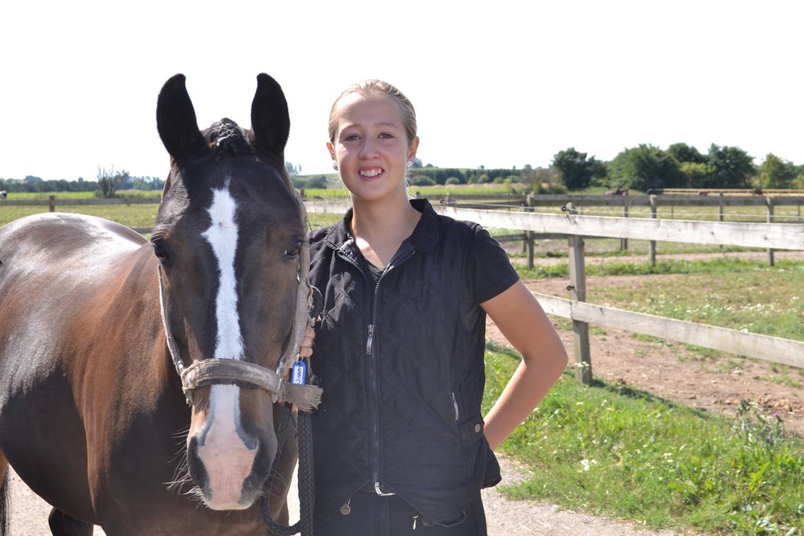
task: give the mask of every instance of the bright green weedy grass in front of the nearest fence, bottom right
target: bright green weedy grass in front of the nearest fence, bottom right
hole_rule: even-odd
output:
[[[484,411],[519,357],[486,352]],[[500,447],[532,477],[507,497],[650,527],[736,534],[804,530],[804,444],[747,403],[730,420],[568,374]]]

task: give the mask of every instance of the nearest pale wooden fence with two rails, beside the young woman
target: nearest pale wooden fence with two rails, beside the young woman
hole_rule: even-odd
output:
[[[350,203],[308,201],[306,206],[308,211],[314,213],[343,214]],[[572,321],[576,375],[582,382],[590,383],[592,380],[589,324],[804,368],[804,342],[586,303],[584,260],[584,237],[587,236],[804,251],[804,224],[585,216],[577,214],[572,205],[563,215],[531,213],[524,209],[494,211],[449,205],[433,205],[433,208],[440,214],[478,222],[486,227],[570,237],[569,299],[533,294],[547,313]]]

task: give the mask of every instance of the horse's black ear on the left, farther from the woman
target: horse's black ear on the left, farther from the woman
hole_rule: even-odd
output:
[[[162,86],[156,105],[156,128],[162,144],[173,158],[203,147],[203,137],[184,80],[181,74],[170,77]]]

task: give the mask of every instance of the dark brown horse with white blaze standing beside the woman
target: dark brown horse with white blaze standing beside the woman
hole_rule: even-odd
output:
[[[309,256],[268,75],[251,119],[199,131],[185,77],[167,80],[150,241],[84,215],[0,227],[2,493],[10,465],[53,506],[52,534],[268,534],[259,503],[278,455],[267,500],[287,522],[297,445],[277,452],[278,415],[320,390],[284,380]]]

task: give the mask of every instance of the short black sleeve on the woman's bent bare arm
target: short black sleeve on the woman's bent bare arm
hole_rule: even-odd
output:
[[[479,225],[474,228],[470,256],[471,283],[476,303],[490,300],[519,280],[508,255],[497,240]]]

